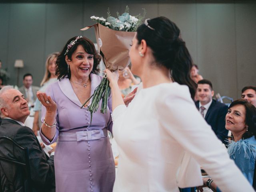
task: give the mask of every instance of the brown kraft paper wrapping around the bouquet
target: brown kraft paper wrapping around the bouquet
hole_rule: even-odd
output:
[[[91,27],[94,27],[98,50],[106,68],[123,70],[128,66],[130,63],[130,44],[135,32],[116,31],[98,23],[81,30],[87,30]]]

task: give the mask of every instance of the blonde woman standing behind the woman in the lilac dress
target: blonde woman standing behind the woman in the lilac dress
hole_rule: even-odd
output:
[[[46,59],[45,63],[45,73],[44,73],[44,78],[40,84],[41,88],[39,91],[44,92],[46,88],[52,84],[53,82],[57,81],[57,76],[55,75],[55,67],[56,67],[56,59],[59,55],[59,52],[54,52],[48,56]],[[34,134],[37,135],[37,131],[39,131],[39,128],[42,125],[42,122],[39,121],[39,118],[41,118],[41,109],[42,109],[42,104],[36,99],[35,106],[34,106],[34,123],[33,123],[33,131]]]

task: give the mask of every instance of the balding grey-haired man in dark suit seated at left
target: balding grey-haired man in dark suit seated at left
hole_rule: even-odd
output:
[[[54,155],[51,154],[50,158],[48,158],[42,150],[34,132],[24,125],[29,114],[28,102],[20,91],[13,89],[11,86],[6,86],[0,90],[0,115],[2,118],[0,136],[7,136],[16,141],[20,146],[28,148],[32,191],[54,192]],[[24,161],[23,156],[12,152],[13,148],[11,144],[10,146],[8,146],[8,144],[0,145],[1,156],[9,153],[9,155],[11,154],[17,160]],[[0,170],[2,168],[0,167]],[[18,177],[18,179],[16,179],[17,181],[22,180],[22,178],[19,178],[21,177],[21,173],[10,164],[4,166],[4,170],[7,170],[9,174],[14,172]],[[19,182],[18,184],[15,183],[15,188],[22,187],[20,185]],[[0,186],[0,191],[10,191],[10,189],[8,189],[8,187],[10,187],[9,182],[6,180],[5,174],[1,171]]]

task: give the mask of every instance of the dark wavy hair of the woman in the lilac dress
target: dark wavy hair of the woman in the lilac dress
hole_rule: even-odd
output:
[[[68,64],[66,63],[66,60],[65,60],[66,56],[64,54],[67,50],[68,44],[70,44],[70,42],[75,40],[76,38],[77,38],[77,36],[74,36],[70,40],[68,40],[68,42],[65,44],[62,52],[60,52],[59,56],[57,57],[57,60],[56,60],[56,76],[58,77],[58,80],[64,78],[66,75],[68,75],[69,79],[71,77],[71,72],[70,72],[70,70],[68,72]],[[70,48],[70,50],[66,54],[68,56],[68,59],[72,60],[71,56],[76,51],[76,48],[78,47],[78,45],[82,45],[84,50],[86,51],[86,53],[93,55],[92,72],[97,74],[100,71],[98,66],[100,64],[101,57],[96,52],[95,46],[94,46],[93,42],[90,39],[88,39],[86,37],[82,37],[82,38],[78,39],[76,41],[76,44],[74,44],[74,46],[72,46],[72,48]]]

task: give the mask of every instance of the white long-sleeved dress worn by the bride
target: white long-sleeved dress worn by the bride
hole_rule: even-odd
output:
[[[118,106],[112,119],[120,152],[114,192],[178,192],[178,186],[200,185],[199,164],[222,191],[254,191],[196,109],[187,86],[144,88],[127,108]]]

